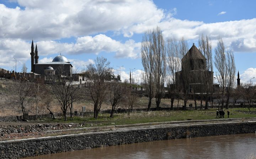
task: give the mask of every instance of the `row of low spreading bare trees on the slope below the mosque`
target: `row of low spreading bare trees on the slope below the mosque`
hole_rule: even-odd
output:
[[[67,120],[67,113],[70,111],[70,117],[73,114],[73,103],[86,98],[86,93],[90,94],[94,103],[94,118],[97,119],[101,110],[102,103],[110,103],[112,106],[111,115],[113,117],[116,106],[126,102],[128,113],[133,108],[137,95],[132,92],[132,88],[128,83],[118,82],[118,77],[113,76],[113,69],[110,62],[104,57],[97,57],[95,64],[90,64],[84,75],[90,82],[86,88],[81,88],[77,83],[77,76],[68,76],[64,68],[58,69],[57,75],[49,77],[50,85],[46,87],[39,81],[22,81],[17,79],[14,82],[14,103],[21,106],[23,119],[26,119],[26,106],[36,106],[36,114],[38,113],[39,104],[46,106],[50,114],[54,115],[50,107],[53,99],[57,102],[62,110],[64,120]],[[54,116],[53,116],[54,117]]]

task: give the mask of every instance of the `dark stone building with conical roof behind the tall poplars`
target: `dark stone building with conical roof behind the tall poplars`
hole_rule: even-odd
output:
[[[206,58],[194,44],[183,56],[181,71],[175,72],[175,80],[180,91],[204,93],[206,82],[213,86],[213,71],[206,69]]]

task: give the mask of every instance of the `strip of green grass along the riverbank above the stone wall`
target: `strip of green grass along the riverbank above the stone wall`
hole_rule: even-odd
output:
[[[249,118],[256,117],[256,108],[251,108],[251,113],[247,108],[231,108],[230,118]],[[225,110],[225,119],[228,117]],[[187,111],[150,111],[122,114],[114,114],[110,118],[110,114],[99,114],[98,119],[95,120],[92,115],[83,117],[68,117],[68,121],[60,119],[45,119],[43,122],[60,122],[60,123],[84,123],[86,127],[89,126],[107,126],[107,125],[125,125],[125,124],[139,124],[148,122],[165,122],[165,121],[182,121],[182,120],[207,120],[220,119],[216,118],[216,109],[209,110],[187,110]]]

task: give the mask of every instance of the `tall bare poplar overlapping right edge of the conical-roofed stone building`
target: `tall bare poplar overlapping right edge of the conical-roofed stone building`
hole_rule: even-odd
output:
[[[205,93],[205,109],[208,109],[208,98],[209,94],[213,91],[213,65],[212,65],[212,43],[208,36],[202,34],[201,38],[198,40],[199,50],[206,58],[206,67],[204,67],[203,72],[203,86]]]

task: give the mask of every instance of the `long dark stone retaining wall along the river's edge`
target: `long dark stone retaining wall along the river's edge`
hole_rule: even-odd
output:
[[[143,127],[105,132],[0,141],[0,156],[21,158],[87,148],[114,146],[166,139],[254,133],[256,122],[193,124],[183,126]]]

